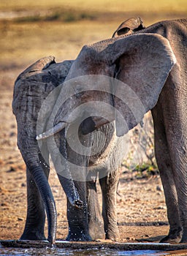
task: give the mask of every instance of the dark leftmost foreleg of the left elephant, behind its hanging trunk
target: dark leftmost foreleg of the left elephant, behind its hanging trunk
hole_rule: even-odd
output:
[[[49,176],[49,167],[42,159],[42,167],[45,170],[45,175]],[[26,170],[27,179],[27,217],[26,225],[20,239],[22,240],[45,240],[45,207],[42,202],[42,197],[31,176],[30,171]]]

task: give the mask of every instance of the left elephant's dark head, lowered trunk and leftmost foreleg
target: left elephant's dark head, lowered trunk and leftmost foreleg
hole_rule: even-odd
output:
[[[48,240],[52,244],[56,240],[56,205],[47,181],[49,152],[44,141],[43,155],[40,153],[36,140],[37,118],[42,102],[64,82],[71,65],[72,61],[56,64],[53,56],[46,57],[28,67],[15,81],[12,109],[18,122],[18,148],[26,162],[28,201],[26,225],[20,239],[45,239],[46,211]]]

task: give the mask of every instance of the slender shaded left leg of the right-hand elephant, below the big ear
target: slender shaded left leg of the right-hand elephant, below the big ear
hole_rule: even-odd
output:
[[[155,129],[155,154],[157,165],[164,188],[169,221],[169,234],[161,242],[179,243],[182,238],[182,226],[178,209],[178,195],[175,187],[175,176],[172,169],[172,159],[164,127],[164,121],[158,108],[152,111]]]

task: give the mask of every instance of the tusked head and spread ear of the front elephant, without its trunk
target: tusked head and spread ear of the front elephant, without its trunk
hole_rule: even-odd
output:
[[[117,135],[124,135],[156,105],[175,62],[169,41],[159,34],[134,34],[83,47],[66,77],[63,94],[68,99],[58,110],[56,126],[37,139],[81,116],[85,133],[115,120]],[[61,102],[61,95],[58,99]]]

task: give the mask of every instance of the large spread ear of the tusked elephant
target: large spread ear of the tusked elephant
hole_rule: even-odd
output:
[[[109,45],[107,56],[115,64],[113,104],[117,135],[124,135],[142,121],[159,99],[176,63],[169,41],[159,34],[136,34]]]

